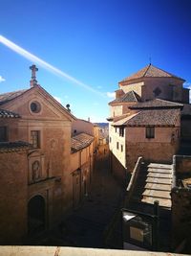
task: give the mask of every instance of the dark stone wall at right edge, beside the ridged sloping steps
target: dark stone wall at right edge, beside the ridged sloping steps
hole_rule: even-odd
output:
[[[191,178],[191,156],[175,155],[173,160],[174,182],[172,198],[172,244],[187,244],[191,251],[191,188],[183,179]]]

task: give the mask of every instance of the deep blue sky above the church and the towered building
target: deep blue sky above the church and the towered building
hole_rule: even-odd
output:
[[[106,122],[117,82],[150,57],[191,87],[190,0],[0,0],[0,10],[0,35],[79,81],[36,64],[38,83],[78,118]],[[32,63],[0,43],[0,93],[28,88]]]

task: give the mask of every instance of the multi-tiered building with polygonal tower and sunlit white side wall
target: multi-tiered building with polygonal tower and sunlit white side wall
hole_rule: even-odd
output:
[[[120,179],[133,171],[138,156],[172,162],[180,140],[191,138],[189,90],[183,82],[151,64],[119,81],[108,121],[111,166]]]

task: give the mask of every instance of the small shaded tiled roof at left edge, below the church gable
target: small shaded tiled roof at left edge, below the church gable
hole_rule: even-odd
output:
[[[23,151],[32,148],[32,144],[24,141],[0,142],[0,152]]]

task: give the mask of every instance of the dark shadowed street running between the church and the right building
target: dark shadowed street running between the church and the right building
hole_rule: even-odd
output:
[[[96,161],[90,194],[81,206],[40,240],[41,245],[107,247],[107,231],[120,214],[122,187],[109,171],[108,159]]]

